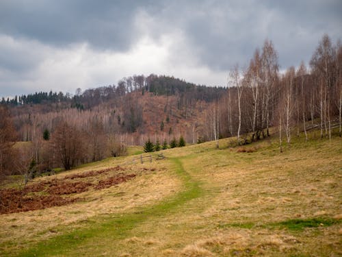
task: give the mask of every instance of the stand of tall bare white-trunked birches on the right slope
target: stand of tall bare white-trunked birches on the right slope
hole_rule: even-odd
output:
[[[231,69],[227,93],[207,110],[201,134],[206,140],[237,136],[239,144],[269,136],[271,126],[287,143],[294,128],[299,135],[318,127],[321,137],[330,138],[332,128],[339,127],[341,135],[341,67],[341,43],[324,35],[309,67],[302,62],[280,73],[278,53],[266,40],[246,69]]]

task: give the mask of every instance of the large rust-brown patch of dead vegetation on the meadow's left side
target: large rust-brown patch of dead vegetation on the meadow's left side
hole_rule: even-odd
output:
[[[135,174],[117,173],[116,175],[100,180],[97,185],[90,182],[69,182],[75,178],[88,178],[111,171],[124,171],[124,168],[117,166],[101,171],[88,171],[85,173],[66,175],[64,179],[52,179],[42,182],[36,182],[25,186],[25,189],[19,191],[14,188],[0,189],[0,214],[13,212],[26,212],[28,210],[40,210],[53,206],[63,206],[78,201],[75,197],[62,197],[61,195],[70,195],[73,193],[82,193],[94,188],[101,190],[109,188],[116,184],[126,182],[135,177]],[[27,195],[31,193],[30,195]],[[44,195],[37,195],[43,193]],[[22,196],[23,194],[23,196]]]

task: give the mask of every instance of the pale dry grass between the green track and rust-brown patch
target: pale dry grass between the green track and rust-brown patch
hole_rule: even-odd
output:
[[[63,233],[66,228],[73,230],[86,226],[92,217],[109,213],[133,212],[139,206],[150,205],[173,195],[174,192],[179,191],[181,184],[174,174],[167,172],[167,168],[168,164],[163,162],[129,166],[124,173],[131,173],[132,171],[137,173],[138,175],[134,180],[101,191],[92,189],[74,194],[73,197],[83,199],[76,204],[1,215],[0,252],[2,245],[8,245],[13,241],[18,244],[18,247],[27,242],[38,242]],[[91,169],[93,170],[94,167]],[[150,171],[151,169],[155,169],[155,171]],[[71,171],[68,175],[87,171],[89,168],[85,167]],[[62,173],[54,177],[62,179],[65,174]],[[101,174],[81,180],[96,182],[104,178],[106,175]],[[39,178],[38,181],[49,179]]]

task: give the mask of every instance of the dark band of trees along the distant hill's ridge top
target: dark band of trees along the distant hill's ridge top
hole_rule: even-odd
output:
[[[131,77],[124,77],[120,79],[118,84],[109,86],[101,86],[98,88],[90,88],[84,92],[78,88],[75,95],[70,93],[56,93],[52,90],[48,92],[36,92],[29,95],[16,95],[13,99],[2,97],[1,103],[9,106],[33,105],[44,104],[49,105],[59,103],[64,108],[79,108],[82,110],[92,108],[100,103],[112,99],[118,99],[139,91],[141,95],[144,93],[153,93],[153,95],[176,95],[181,99],[185,98],[187,101],[213,101],[219,99],[220,95],[224,93],[226,88],[223,87],[209,87],[199,86],[190,82],[185,82],[182,79],[166,76],[151,74],[145,77],[144,75],[133,75]],[[63,104],[64,103],[64,104]],[[42,110],[47,110],[42,108]]]

